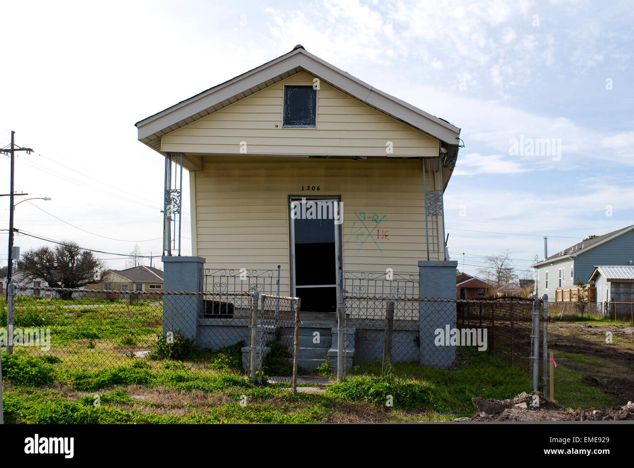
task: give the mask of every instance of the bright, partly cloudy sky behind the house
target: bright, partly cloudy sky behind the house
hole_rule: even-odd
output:
[[[0,147],[15,130],[34,148],[16,160],[16,192],[52,198],[18,205],[15,227],[160,255],[162,160],[134,122],[301,43],[462,129],[445,194],[451,257],[475,273],[509,249],[531,275],[543,236],[553,253],[634,223],[633,11],[572,0],[4,2]],[[112,254],[100,257],[122,268]]]

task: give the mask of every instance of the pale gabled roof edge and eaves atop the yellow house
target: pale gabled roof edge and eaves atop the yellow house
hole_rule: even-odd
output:
[[[207,89],[207,91],[181,101],[157,114],[139,120],[135,124],[138,129],[138,140],[160,152],[160,141],[163,135],[301,71],[314,75],[366,105],[441,140],[445,143],[448,152],[457,157],[460,136],[458,127],[373,88],[308,53],[301,46],[295,47],[289,53],[271,60],[271,62],[264,63],[264,65],[214,86],[214,88]]]

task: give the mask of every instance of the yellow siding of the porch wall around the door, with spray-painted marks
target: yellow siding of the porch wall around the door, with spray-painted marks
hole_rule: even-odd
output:
[[[302,195],[302,185],[320,187],[307,195],[341,196],[344,270],[418,273],[418,260],[427,259],[420,160],[207,156],[204,170],[193,174],[195,254],[205,268],[281,265],[281,293],[289,294],[288,195]],[[433,184],[428,174],[427,190]],[[388,238],[377,238],[368,222],[372,236],[358,231],[361,213],[385,216],[378,229]],[[438,235],[429,223],[429,241],[437,245]]]

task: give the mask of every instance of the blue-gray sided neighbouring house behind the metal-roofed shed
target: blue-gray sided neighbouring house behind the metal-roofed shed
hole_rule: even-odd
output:
[[[533,264],[535,292],[555,300],[557,288],[571,287],[578,280],[588,283],[597,265],[634,263],[634,224],[579,242]]]

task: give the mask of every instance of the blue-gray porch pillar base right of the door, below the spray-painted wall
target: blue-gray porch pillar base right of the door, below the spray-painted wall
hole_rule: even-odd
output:
[[[427,299],[456,299],[457,261],[418,261],[418,294]],[[436,330],[456,327],[456,302],[420,302],[420,364],[449,368],[456,360],[456,347],[437,345]]]

